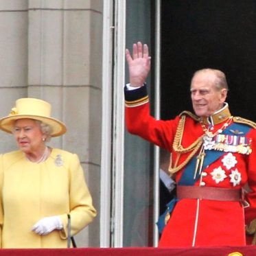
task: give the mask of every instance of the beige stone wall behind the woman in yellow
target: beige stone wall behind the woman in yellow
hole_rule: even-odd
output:
[[[52,104],[67,134],[50,146],[80,156],[95,207],[100,209],[103,0],[0,0],[0,116],[19,97]],[[16,149],[0,132],[0,152]],[[75,237],[100,245],[100,213]]]

